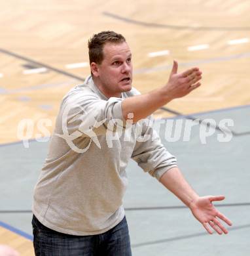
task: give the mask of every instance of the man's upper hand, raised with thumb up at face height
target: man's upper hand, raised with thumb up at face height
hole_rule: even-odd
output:
[[[178,63],[174,60],[170,79],[166,85],[166,93],[170,98],[181,98],[201,85],[198,82],[202,79],[202,72],[199,68],[191,68],[180,74],[177,74],[177,70]]]

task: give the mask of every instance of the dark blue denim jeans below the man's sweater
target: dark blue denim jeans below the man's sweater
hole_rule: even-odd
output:
[[[132,256],[126,217],[103,234],[73,236],[56,232],[32,219],[36,256]]]

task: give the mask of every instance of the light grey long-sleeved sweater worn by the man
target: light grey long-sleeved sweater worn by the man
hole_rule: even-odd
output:
[[[122,116],[122,100],[138,94],[107,98],[89,76],[64,96],[34,189],[33,213],[45,226],[78,236],[106,232],[124,217],[130,158],[158,180],[177,166],[151,117],[128,125]]]

